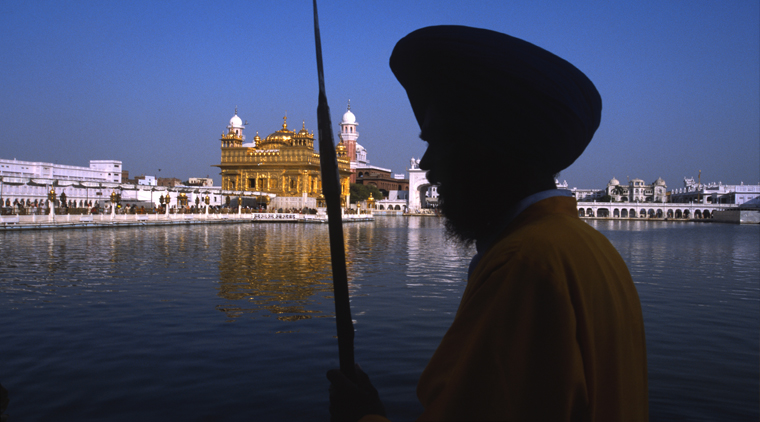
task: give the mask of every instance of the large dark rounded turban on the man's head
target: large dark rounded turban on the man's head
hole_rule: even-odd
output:
[[[460,126],[460,136],[477,138],[460,139],[462,146],[488,143],[551,173],[570,166],[599,127],[602,99],[586,75],[506,34],[418,29],[396,44],[390,66],[420,127],[435,104]]]

